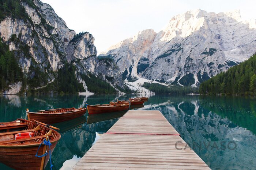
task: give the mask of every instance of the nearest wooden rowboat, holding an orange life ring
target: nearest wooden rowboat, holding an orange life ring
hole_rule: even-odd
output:
[[[49,126],[49,125],[48,125]],[[33,137],[14,139],[15,134],[33,133]],[[49,146],[46,146],[44,139],[50,141],[50,153],[52,154],[61,135],[47,126],[25,119],[17,119],[13,122],[0,123],[0,162],[14,169],[35,169],[43,170],[49,161],[50,155],[43,155]],[[39,147],[39,145],[42,145]],[[39,149],[38,149],[39,147]]]

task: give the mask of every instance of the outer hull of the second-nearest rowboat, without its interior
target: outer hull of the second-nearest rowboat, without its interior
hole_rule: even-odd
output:
[[[28,112],[28,118],[37,120],[42,123],[46,124],[52,124],[52,123],[59,123],[59,122],[64,122],[67,120],[75,119],[78,118],[82,115],[84,115],[86,112],[86,108],[79,110],[79,111],[74,111],[70,113],[36,113],[36,112]]]

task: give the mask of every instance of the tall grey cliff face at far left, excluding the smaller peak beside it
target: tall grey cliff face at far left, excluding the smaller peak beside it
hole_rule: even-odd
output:
[[[47,80],[38,84],[43,86],[54,79],[54,71],[63,65],[67,56],[65,41],[76,33],[67,28],[50,5],[38,0],[30,5],[20,1],[20,5],[25,8],[26,19],[5,17],[0,23],[1,37],[15,52],[28,79],[33,79],[36,72],[46,75]]]

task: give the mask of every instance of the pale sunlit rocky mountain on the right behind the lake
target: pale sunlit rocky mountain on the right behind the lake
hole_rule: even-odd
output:
[[[254,54],[255,28],[255,20],[243,21],[239,11],[197,9],[174,16],[157,34],[144,30],[138,33],[142,41],[126,39],[100,55],[114,58],[128,79],[132,73],[135,78],[197,86]]]

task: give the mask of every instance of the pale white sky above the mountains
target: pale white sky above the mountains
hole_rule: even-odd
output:
[[[159,32],[175,15],[202,9],[240,9],[242,19],[256,19],[255,0],[41,0],[76,33],[90,32],[98,54],[143,29]]]

